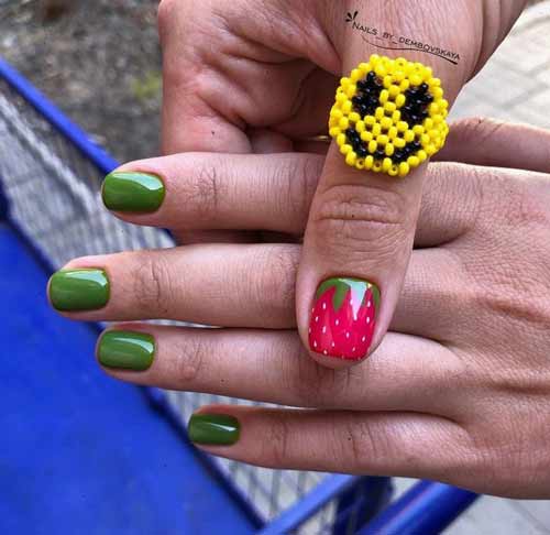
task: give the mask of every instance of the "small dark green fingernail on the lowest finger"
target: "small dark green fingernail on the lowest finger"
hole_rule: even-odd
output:
[[[228,414],[194,414],[187,426],[189,439],[197,444],[231,446],[239,440],[239,421]]]

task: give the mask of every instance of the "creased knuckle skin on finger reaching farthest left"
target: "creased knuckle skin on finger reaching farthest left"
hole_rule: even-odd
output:
[[[172,292],[165,261],[158,255],[144,252],[135,269],[133,281],[140,310],[152,312],[158,317],[167,316]]]

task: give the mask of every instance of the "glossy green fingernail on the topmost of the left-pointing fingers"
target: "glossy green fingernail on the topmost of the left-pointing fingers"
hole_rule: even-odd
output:
[[[164,200],[164,184],[156,175],[114,171],[103,181],[101,195],[110,210],[155,211]]]

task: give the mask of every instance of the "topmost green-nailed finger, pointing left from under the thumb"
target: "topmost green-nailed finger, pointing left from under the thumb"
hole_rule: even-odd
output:
[[[322,163],[320,155],[292,153],[186,153],[142,160],[106,177],[103,201],[121,219],[176,231],[301,233]],[[155,211],[139,214],[132,192],[147,176],[161,177],[164,199]]]

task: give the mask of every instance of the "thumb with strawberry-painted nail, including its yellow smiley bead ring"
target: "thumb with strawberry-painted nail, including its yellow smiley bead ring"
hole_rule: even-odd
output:
[[[297,282],[300,334],[326,365],[363,359],[389,326],[448,132],[442,92],[431,68],[377,55],[341,80]]]

